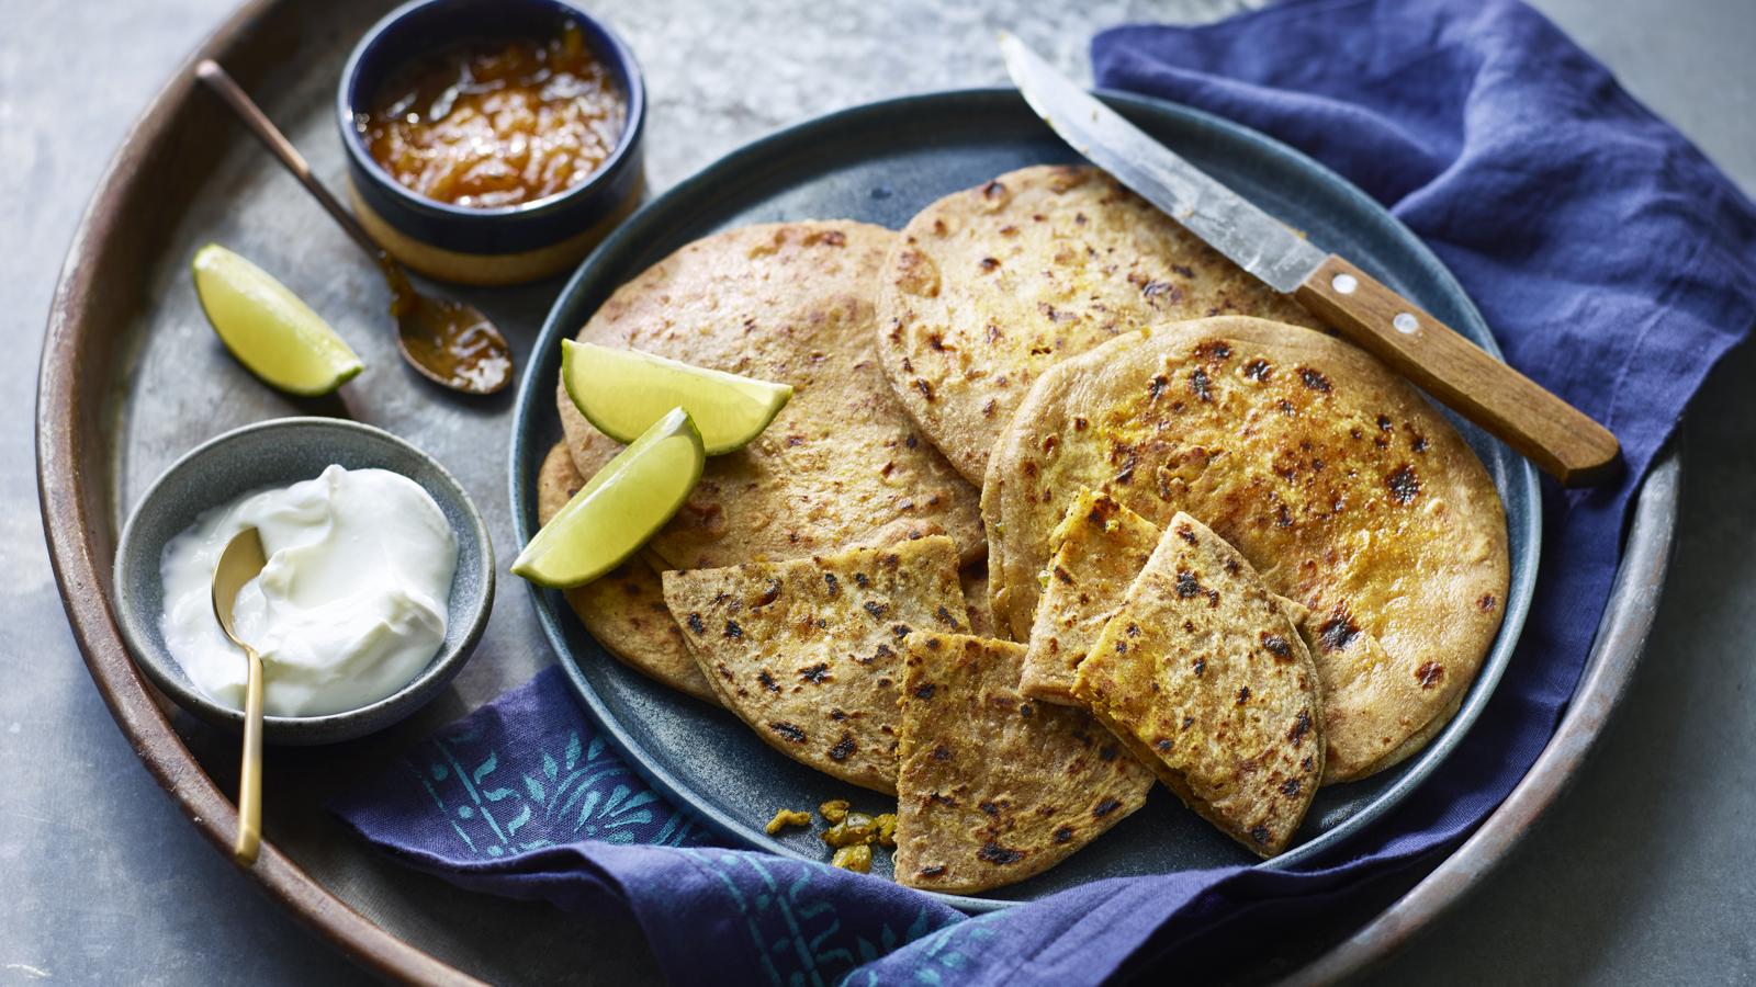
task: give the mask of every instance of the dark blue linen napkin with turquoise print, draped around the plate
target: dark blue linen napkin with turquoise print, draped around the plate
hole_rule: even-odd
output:
[[[1092,42],[1101,86],[1268,132],[1401,218],[1508,360],[1608,425],[1616,486],[1545,488],[1536,601],[1482,718],[1417,792],[1292,873],[1117,878],[964,919],[889,882],[715,847],[604,746],[558,669],[334,806],[465,887],[623,908],[680,983],[1096,983],[1263,957],[1278,931],[1431,866],[1517,783],[1579,680],[1631,492],[1756,321],[1756,209],[1515,0],[1310,0]],[[704,962],[702,957],[713,957]]]

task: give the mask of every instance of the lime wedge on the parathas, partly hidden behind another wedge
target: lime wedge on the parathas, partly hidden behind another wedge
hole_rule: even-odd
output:
[[[560,344],[560,379],[579,414],[618,443],[632,443],[673,407],[688,411],[709,457],[750,444],[792,397],[788,385],[571,339]]]

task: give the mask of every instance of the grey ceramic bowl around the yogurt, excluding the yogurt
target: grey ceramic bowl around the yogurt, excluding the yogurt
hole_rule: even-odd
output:
[[[464,667],[493,604],[493,546],[469,494],[437,460],[402,439],[339,418],[276,418],[227,432],[170,465],[133,509],[116,550],[116,615],[135,664],[153,685],[202,720],[242,731],[244,715],[209,699],[165,648],[160,630],[165,543],[195,518],[253,490],[311,479],[323,467],[388,469],[420,483],[457,532],[457,576],[446,636],[434,660],[386,699],[328,717],[263,717],[262,738],[276,745],[320,745],[385,729],[414,713]],[[239,660],[244,660],[242,655]]]

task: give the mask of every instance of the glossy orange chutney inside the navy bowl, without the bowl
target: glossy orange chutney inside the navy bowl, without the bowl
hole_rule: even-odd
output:
[[[423,61],[392,79],[355,126],[397,184],[435,202],[499,209],[592,177],[625,119],[627,97],[569,21],[548,42]]]

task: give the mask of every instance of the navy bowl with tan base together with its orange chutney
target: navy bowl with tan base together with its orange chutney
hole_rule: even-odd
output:
[[[637,204],[644,104],[627,46],[565,0],[416,0],[342,70],[355,211],[434,277],[557,274]]]

